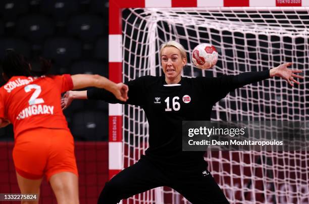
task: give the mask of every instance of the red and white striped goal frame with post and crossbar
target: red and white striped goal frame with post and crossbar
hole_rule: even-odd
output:
[[[122,82],[122,9],[172,7],[304,7],[309,0],[110,0],[109,76]],[[109,105],[109,178],[122,170],[122,105]]]

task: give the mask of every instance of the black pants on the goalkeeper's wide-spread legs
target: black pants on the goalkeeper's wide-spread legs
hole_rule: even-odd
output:
[[[116,204],[121,199],[159,186],[173,188],[192,204],[229,203],[207,170],[206,162],[201,162],[195,167],[162,168],[145,158],[107,182],[97,203]]]

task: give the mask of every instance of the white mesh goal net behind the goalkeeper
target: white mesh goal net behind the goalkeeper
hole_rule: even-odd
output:
[[[220,76],[262,71],[292,62],[305,79],[291,88],[269,79],[231,92],[213,107],[212,120],[309,120],[308,8],[126,9],[123,11],[123,80],[163,74],[159,46],[177,40],[186,49],[183,76]],[[192,49],[213,44],[217,65],[201,71],[191,64]],[[148,145],[144,112],[124,106],[124,168]],[[181,136],[181,135],[180,135]],[[308,151],[209,151],[209,170],[231,203],[308,203]],[[129,198],[127,203],[188,203],[162,187]]]

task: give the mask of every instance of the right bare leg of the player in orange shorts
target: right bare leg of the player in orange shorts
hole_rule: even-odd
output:
[[[56,195],[58,204],[79,204],[78,177],[71,172],[53,175],[49,183]]]

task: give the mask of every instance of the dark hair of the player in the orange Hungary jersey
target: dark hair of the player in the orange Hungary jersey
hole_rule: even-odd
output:
[[[2,61],[2,69],[9,79],[13,76],[42,76],[47,74],[52,64],[44,58],[39,58],[39,61],[40,70],[33,71],[23,55],[17,53],[14,49],[7,49],[6,56]]]

